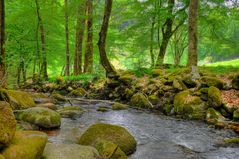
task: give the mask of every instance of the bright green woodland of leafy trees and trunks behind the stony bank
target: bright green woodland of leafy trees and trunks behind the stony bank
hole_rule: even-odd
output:
[[[10,83],[103,73],[103,67],[203,65],[238,57],[239,12],[233,0],[1,3],[0,72]]]

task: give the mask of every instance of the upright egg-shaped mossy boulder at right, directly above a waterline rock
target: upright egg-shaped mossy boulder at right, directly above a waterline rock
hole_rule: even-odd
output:
[[[209,102],[209,105],[214,108],[218,108],[222,106],[221,91],[217,87],[214,87],[214,86],[209,87],[208,102]]]

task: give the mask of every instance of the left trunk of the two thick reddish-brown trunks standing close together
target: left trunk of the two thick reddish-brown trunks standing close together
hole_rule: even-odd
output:
[[[78,8],[78,18],[76,24],[76,48],[74,59],[74,75],[82,73],[82,50],[83,50],[83,38],[85,30],[85,9],[86,3],[83,1]]]

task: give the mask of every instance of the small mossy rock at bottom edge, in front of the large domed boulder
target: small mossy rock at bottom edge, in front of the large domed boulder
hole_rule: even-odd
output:
[[[113,142],[100,140],[96,144],[100,156],[105,159],[128,159],[120,147]]]

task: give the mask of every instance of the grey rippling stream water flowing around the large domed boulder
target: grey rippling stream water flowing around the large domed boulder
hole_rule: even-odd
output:
[[[61,129],[52,132],[49,140],[75,143],[91,124],[105,122],[127,128],[136,138],[137,151],[131,159],[239,159],[239,146],[222,145],[225,138],[237,136],[230,130],[132,109],[97,112],[102,105],[106,104],[81,105],[86,112],[76,119],[63,118]]]

